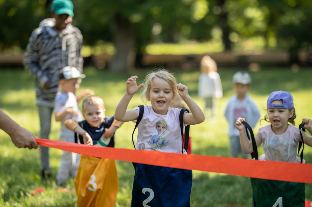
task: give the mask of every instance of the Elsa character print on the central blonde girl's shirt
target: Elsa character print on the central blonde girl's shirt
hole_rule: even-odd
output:
[[[156,122],[155,127],[158,134],[149,136],[149,145],[154,149],[163,149],[168,145],[168,141],[165,138],[168,126],[165,121],[160,120]]]

